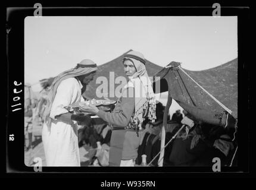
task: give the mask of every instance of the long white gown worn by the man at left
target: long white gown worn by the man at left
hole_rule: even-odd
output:
[[[43,124],[42,140],[47,166],[80,166],[77,123],[65,123],[55,116],[68,113],[64,106],[80,102],[82,84],[76,78],[61,81],[52,103],[51,126]]]

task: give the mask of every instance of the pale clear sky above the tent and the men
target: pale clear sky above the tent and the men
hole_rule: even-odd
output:
[[[177,61],[192,71],[238,56],[237,17],[27,17],[24,24],[24,77],[30,84],[82,59],[101,65],[129,49],[154,64]]]

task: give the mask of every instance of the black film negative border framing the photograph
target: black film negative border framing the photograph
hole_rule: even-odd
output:
[[[212,7],[44,7],[42,16],[212,16]],[[24,164],[24,111],[12,112],[15,105],[13,101],[14,88],[23,91],[18,94],[20,103],[24,103],[24,19],[33,16],[35,8],[7,8],[7,74],[8,74],[8,107],[7,107],[7,172],[33,173],[33,167]],[[249,94],[249,8],[221,7],[221,16],[238,16],[238,115],[242,121],[237,136],[239,139],[238,167],[221,167],[218,173],[249,173],[249,121],[245,111],[248,110]],[[36,48],[36,46],[35,46]],[[15,85],[14,81],[22,83]],[[17,101],[17,103],[19,103]],[[18,106],[17,106],[18,107]],[[9,141],[14,134],[15,140]],[[177,175],[178,173],[213,173],[211,167],[43,167],[42,173],[165,173]],[[205,175],[204,174],[204,175]]]

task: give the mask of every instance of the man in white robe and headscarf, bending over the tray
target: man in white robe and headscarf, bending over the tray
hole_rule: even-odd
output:
[[[90,117],[72,115],[64,107],[83,101],[81,89],[95,72],[96,64],[85,59],[52,83],[42,131],[47,166],[80,166],[76,121],[90,122]]]

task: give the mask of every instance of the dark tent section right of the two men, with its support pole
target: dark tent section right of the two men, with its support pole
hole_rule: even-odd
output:
[[[203,71],[189,71],[183,69],[179,62],[171,62],[154,75],[153,85],[157,92],[168,91],[161,148],[164,148],[164,126],[172,99],[196,121],[236,129],[238,59]],[[160,158],[164,154],[161,150]]]

